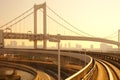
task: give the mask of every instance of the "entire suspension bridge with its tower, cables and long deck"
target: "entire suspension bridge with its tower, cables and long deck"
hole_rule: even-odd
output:
[[[33,8],[34,8],[34,10],[31,11]],[[54,18],[49,16],[47,14],[46,8],[49,9],[50,11],[52,11],[56,16],[58,16],[60,19],[62,19],[65,23],[67,23],[70,26],[72,26],[75,30],[78,30],[80,33],[85,34],[87,36],[66,36],[66,35],[59,35],[58,36],[58,35],[48,34],[47,33],[47,27],[49,28],[49,25],[47,26],[47,17],[50,18],[55,23],[57,23],[58,25],[60,25],[60,27],[62,26],[64,29],[67,29],[67,30],[69,30],[72,33],[80,35],[80,33],[73,31],[72,29],[64,26],[63,24],[59,23],[57,20],[55,20]],[[43,12],[43,34],[38,34],[37,33],[37,31],[38,31],[37,11],[39,9],[43,9],[43,11],[42,11]],[[27,14],[27,15],[25,15],[25,14]],[[16,26],[17,24],[19,24],[20,22],[24,21],[24,19],[28,18],[32,14],[33,14],[33,17],[34,17],[34,20],[33,20],[34,21],[33,22],[34,23],[34,28],[32,28],[32,30],[27,30],[25,28],[25,27],[27,27],[26,25],[23,26],[23,30],[20,29],[21,26]],[[79,30],[78,28],[74,27],[72,24],[67,22],[65,19],[63,19],[61,16],[59,16],[50,7],[46,6],[45,3],[44,4],[40,4],[40,5],[34,5],[34,7],[30,8],[27,11],[25,11],[23,14],[21,14],[18,17],[14,18],[13,20],[11,20],[10,22],[8,22],[5,25],[1,26],[0,28],[2,28],[3,32],[4,32],[3,39],[28,39],[28,40],[32,40],[32,41],[34,41],[34,48],[35,49],[37,48],[37,41],[38,40],[40,40],[40,41],[43,40],[43,48],[46,49],[46,47],[47,47],[47,40],[49,40],[50,38],[56,38],[56,39],[59,38],[60,40],[83,40],[83,41],[105,42],[105,43],[109,43],[109,44],[114,44],[114,45],[120,46],[119,38],[118,38],[118,41],[113,41],[113,40],[109,40],[109,39],[105,39],[105,38],[94,37],[94,36],[92,36],[92,35],[90,35],[90,34],[88,34],[86,32],[83,32],[83,31]],[[25,29],[27,30],[26,33],[25,33]],[[34,33],[32,33],[33,30],[34,30]],[[118,37],[119,37],[119,34],[118,34]]]

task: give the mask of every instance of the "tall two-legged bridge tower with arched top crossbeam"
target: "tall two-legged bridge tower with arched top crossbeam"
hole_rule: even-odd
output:
[[[47,31],[46,31],[46,3],[40,4],[40,5],[34,5],[34,34],[37,34],[37,10],[38,9],[43,9],[43,34],[44,34],[44,39],[43,39],[43,48],[46,49],[47,47]],[[34,39],[34,48],[37,48],[37,40]]]

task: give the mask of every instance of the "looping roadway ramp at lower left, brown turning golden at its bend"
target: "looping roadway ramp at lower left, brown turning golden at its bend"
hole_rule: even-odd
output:
[[[29,74],[33,75],[34,78],[28,78],[31,75],[27,76],[27,74],[24,73],[17,73],[18,75],[21,76],[21,80],[51,80],[51,78],[49,77],[49,75],[47,75],[44,72],[41,71],[37,71],[36,69],[30,67],[30,66],[26,66],[23,64],[17,64],[17,63],[12,63],[12,62],[7,62],[7,61],[0,61],[0,67],[5,67],[5,68],[11,68],[11,69],[15,69],[15,70],[21,70],[21,71],[25,71],[28,72]],[[25,75],[23,78],[22,76]],[[0,79],[1,80],[1,79]],[[3,79],[2,79],[3,80]],[[6,79],[5,79],[6,80]],[[8,79],[7,79],[8,80]],[[10,79],[11,80],[11,79]]]

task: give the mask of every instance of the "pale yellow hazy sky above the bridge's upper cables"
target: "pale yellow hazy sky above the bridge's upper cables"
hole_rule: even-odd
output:
[[[45,0],[0,0],[0,26]],[[68,22],[96,37],[120,29],[120,0],[46,0]]]

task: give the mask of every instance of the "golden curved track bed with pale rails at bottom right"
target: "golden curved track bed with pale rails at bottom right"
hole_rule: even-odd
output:
[[[96,59],[95,63],[98,68],[96,80],[120,80],[120,70],[117,67],[100,59]]]

